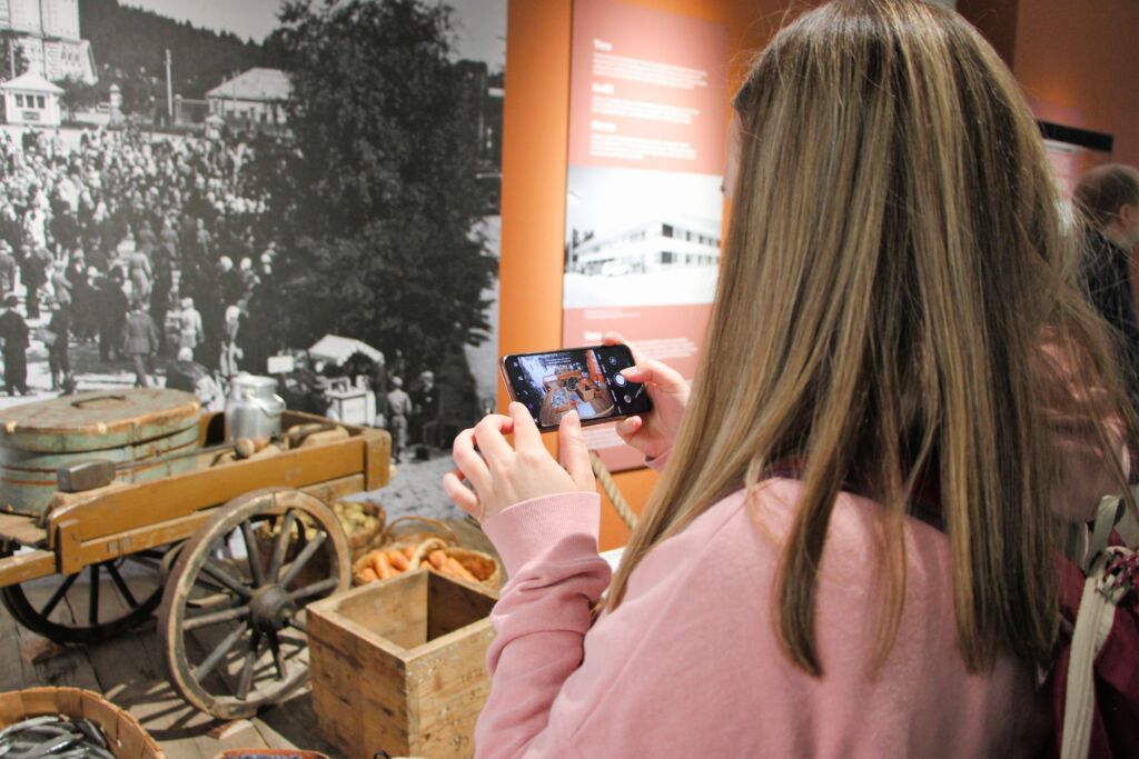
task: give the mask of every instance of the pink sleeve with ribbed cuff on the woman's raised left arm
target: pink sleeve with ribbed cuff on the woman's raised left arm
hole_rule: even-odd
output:
[[[524,501],[483,527],[510,581],[491,613],[498,636],[486,657],[491,695],[475,731],[476,756],[523,756],[581,666],[590,607],[609,584],[597,552],[600,498],[565,493]]]

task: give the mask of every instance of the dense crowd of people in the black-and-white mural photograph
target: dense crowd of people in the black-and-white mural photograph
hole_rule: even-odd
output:
[[[244,138],[87,130],[0,132],[0,294],[5,389],[27,394],[25,350],[48,348],[51,389],[74,389],[69,347],[129,361],[136,385],[156,360],[192,382],[241,370],[241,317],[276,248]],[[44,314],[44,310],[49,314]]]

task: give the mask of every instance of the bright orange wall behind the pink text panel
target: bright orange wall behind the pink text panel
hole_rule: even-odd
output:
[[[751,52],[785,17],[775,0],[638,0],[656,10],[724,24],[729,30],[734,92]],[[502,249],[499,354],[558,347],[570,123],[571,0],[510,0],[507,14],[507,90],[502,146]],[[729,104],[724,104],[724,129]],[[505,388],[499,406],[506,407]],[[555,436],[547,445],[556,448]],[[649,470],[616,476],[640,511],[656,485]],[[623,545],[628,530],[606,502],[601,547]]]

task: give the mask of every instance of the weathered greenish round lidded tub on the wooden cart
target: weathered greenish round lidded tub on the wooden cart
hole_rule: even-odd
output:
[[[118,472],[125,482],[190,471],[192,456],[157,460],[197,446],[198,414],[196,397],[163,389],[80,393],[0,410],[0,509],[42,514],[56,470],[79,461],[140,464]]]

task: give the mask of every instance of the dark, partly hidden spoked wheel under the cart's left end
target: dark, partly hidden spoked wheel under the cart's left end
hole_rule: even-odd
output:
[[[75,575],[9,585],[0,588],[0,601],[21,625],[57,643],[106,641],[139,625],[158,605],[164,551],[140,551]],[[113,592],[104,577],[110,578]]]

